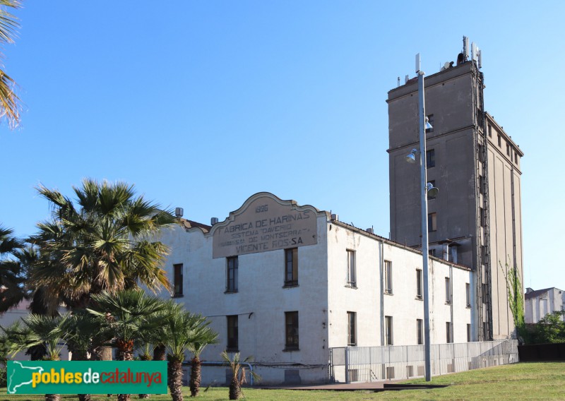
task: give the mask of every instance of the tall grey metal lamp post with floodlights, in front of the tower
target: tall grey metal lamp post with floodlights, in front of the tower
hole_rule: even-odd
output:
[[[422,204],[422,273],[424,275],[424,365],[426,381],[432,380],[431,347],[429,342],[429,280],[428,280],[428,195],[436,196],[438,189],[427,182],[426,173],[426,128],[432,128],[426,117],[424,106],[424,71],[420,69],[420,53],[416,55],[416,73],[418,74],[418,132],[420,135],[420,196]],[[412,149],[406,156],[414,163],[418,150]]]

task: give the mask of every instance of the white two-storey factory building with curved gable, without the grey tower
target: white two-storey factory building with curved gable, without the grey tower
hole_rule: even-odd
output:
[[[320,383],[331,347],[423,343],[420,251],[266,192],[213,226],[181,221],[161,241],[173,297],[220,335],[203,360],[239,351],[261,383]],[[470,341],[470,269],[435,257],[429,269],[432,344]]]

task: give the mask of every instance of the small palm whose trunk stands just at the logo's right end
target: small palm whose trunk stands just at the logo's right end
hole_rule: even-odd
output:
[[[185,352],[206,347],[216,342],[218,335],[208,328],[209,322],[201,315],[177,310],[165,321],[167,327],[166,345],[169,361],[169,390],[173,401],[182,401],[182,362]],[[199,381],[198,381],[199,384]]]

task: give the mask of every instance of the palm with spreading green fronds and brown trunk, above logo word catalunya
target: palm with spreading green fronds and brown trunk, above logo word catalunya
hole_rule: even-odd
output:
[[[139,333],[155,330],[163,321],[148,317],[165,308],[162,301],[149,297],[140,289],[126,289],[112,295],[107,291],[93,295],[95,309],[88,309],[95,316],[106,319],[106,325],[118,349],[119,361],[133,361],[133,350]],[[163,319],[166,316],[163,317]],[[119,401],[129,400],[129,394],[118,395]]]

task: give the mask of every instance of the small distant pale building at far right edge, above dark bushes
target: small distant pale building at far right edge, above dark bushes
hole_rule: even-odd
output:
[[[565,292],[559,288],[526,288],[524,298],[525,323],[537,323],[547,313],[562,312],[565,309]]]

